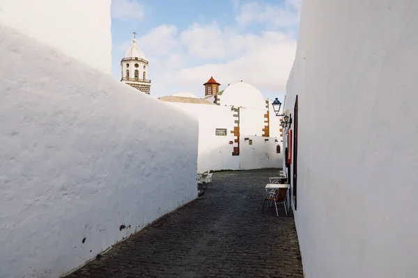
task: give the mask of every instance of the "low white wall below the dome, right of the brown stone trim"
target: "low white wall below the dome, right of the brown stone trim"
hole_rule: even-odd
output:
[[[245,138],[252,140],[252,145]],[[240,170],[282,167],[282,152],[277,154],[277,145],[281,148],[275,138],[240,136]]]

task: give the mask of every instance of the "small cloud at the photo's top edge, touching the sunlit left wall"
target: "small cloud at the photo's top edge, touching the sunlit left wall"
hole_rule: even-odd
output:
[[[112,0],[111,17],[121,20],[144,19],[144,7],[134,0]]]

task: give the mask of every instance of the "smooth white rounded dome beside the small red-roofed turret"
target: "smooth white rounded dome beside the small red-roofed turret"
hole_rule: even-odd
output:
[[[265,99],[260,90],[245,82],[229,85],[219,96],[221,105],[244,108],[265,108]]]

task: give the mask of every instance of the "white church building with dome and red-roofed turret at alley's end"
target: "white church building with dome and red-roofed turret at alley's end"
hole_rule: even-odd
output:
[[[281,167],[281,129],[271,101],[243,81],[221,91],[213,77],[203,85],[203,98],[189,92],[160,97],[199,120],[199,172]]]

